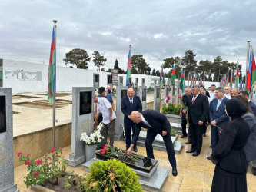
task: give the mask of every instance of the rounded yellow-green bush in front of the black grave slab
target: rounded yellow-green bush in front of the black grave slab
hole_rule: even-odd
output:
[[[91,173],[81,182],[83,191],[142,191],[135,171],[115,159],[95,161]]]

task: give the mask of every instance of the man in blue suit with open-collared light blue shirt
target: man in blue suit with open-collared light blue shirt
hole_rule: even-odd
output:
[[[224,96],[224,88],[218,87],[215,90],[217,98],[211,101],[209,109],[209,118],[211,122],[211,147],[212,153],[214,152],[215,147],[218,144],[219,137],[221,136],[218,127],[223,129],[229,121],[228,115],[225,112],[226,102],[228,98]],[[216,127],[218,126],[218,127]],[[208,160],[211,160],[211,156],[207,157]]]

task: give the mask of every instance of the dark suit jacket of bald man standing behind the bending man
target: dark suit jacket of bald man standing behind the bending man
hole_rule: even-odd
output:
[[[131,119],[128,118],[128,115],[130,115],[132,111],[138,111],[138,112],[142,111],[141,99],[138,96],[134,95],[133,104],[131,106],[131,101],[128,95],[126,95],[124,98],[121,99],[121,112],[125,114],[125,118],[124,118],[125,124],[133,123]]]

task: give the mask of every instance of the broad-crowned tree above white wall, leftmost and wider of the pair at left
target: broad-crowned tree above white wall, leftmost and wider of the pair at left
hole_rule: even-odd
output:
[[[63,59],[65,64],[75,64],[76,68],[88,68],[88,62],[91,61],[87,51],[81,48],[74,48],[66,53],[66,58]]]

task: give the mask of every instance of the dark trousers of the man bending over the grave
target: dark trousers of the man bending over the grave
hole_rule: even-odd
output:
[[[170,132],[171,132],[171,130],[168,130],[167,134],[163,137],[163,139],[165,141],[165,147],[166,147],[166,151],[168,154],[168,159],[171,164],[171,167],[176,167],[175,150],[172,145]],[[155,159],[154,154],[153,154],[152,144],[153,144],[157,134],[158,134],[157,132],[155,132],[151,129],[148,129],[148,131],[147,131],[145,146],[146,146],[146,151],[147,151],[147,157],[152,158],[152,159]]]

